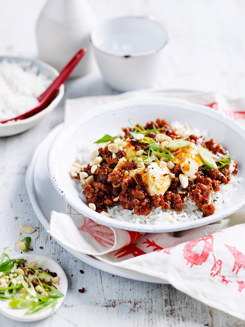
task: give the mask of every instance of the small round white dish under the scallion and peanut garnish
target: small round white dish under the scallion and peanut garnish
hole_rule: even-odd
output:
[[[15,255],[13,257],[10,256],[10,259],[22,259],[22,258],[27,260],[27,263],[36,261],[38,265],[41,265],[45,261],[42,268],[43,269],[49,268],[50,271],[56,272],[57,276],[60,277],[58,287],[60,292],[64,294],[64,297],[58,299],[57,304],[55,306],[55,311],[57,311],[58,308],[63,303],[68,289],[68,280],[64,270],[57,264],[57,262],[55,262],[54,260],[48,257],[44,257],[42,255],[20,254],[20,255]],[[9,302],[10,300],[0,300],[0,313],[16,321],[22,321],[22,322],[38,321],[51,316],[53,312],[53,308],[49,308],[41,312],[25,315],[25,312],[28,309],[13,309],[8,305]]]

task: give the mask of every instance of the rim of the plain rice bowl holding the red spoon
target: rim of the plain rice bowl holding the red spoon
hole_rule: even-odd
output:
[[[48,65],[47,63],[41,61],[41,60],[34,60],[34,59],[29,59],[29,58],[24,58],[24,57],[13,57],[13,56],[0,56],[0,62],[2,60],[10,60],[10,61],[30,61],[32,63],[37,63],[43,67],[45,67],[46,69],[50,70],[55,76],[58,76],[59,75],[59,72],[57,71],[57,69],[55,69],[54,67]],[[62,99],[63,95],[65,93],[65,86],[64,84],[61,84],[60,87],[59,87],[59,92],[58,94],[56,95],[56,97],[53,99],[53,101],[45,108],[43,109],[41,112],[38,112],[36,113],[34,116],[31,116],[29,118],[26,118],[26,119],[22,119],[22,120],[19,120],[17,122],[11,122],[11,123],[5,123],[5,124],[0,124],[0,131],[1,131],[1,128],[6,128],[6,126],[20,126],[20,125],[25,125],[25,124],[28,124],[28,123],[31,123],[35,120],[38,120],[39,118],[41,118],[42,116],[45,116],[47,113],[51,112],[52,110],[54,110],[57,105],[59,104],[60,100]]]

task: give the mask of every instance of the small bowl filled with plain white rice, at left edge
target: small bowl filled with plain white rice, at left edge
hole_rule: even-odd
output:
[[[59,72],[41,60],[0,56],[0,121],[17,117],[35,108],[41,95]],[[64,95],[64,84],[56,97],[32,117],[0,123],[0,137],[22,133],[37,125],[54,110]]]

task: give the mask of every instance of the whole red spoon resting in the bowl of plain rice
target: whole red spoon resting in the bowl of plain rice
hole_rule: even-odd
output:
[[[54,99],[55,95],[57,94],[59,87],[61,84],[63,84],[67,78],[70,76],[70,74],[72,73],[72,71],[74,70],[74,68],[76,67],[76,65],[78,64],[78,62],[83,58],[83,56],[85,55],[87,49],[83,48],[80,49],[75,56],[68,62],[68,64],[61,70],[61,72],[59,73],[59,76],[56,77],[56,79],[53,81],[53,83],[47,88],[46,91],[44,91],[37,99],[40,102],[40,104],[31,109],[30,111],[27,111],[17,117],[14,118],[10,118],[7,120],[3,120],[0,123],[7,123],[10,120],[16,121],[19,119],[26,119],[29,118],[31,116],[34,116],[36,113],[42,111],[43,109],[45,109]]]

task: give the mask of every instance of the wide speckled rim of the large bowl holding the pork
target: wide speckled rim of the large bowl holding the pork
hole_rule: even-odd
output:
[[[231,205],[229,208],[226,208],[223,212],[218,214],[214,214],[208,217],[204,217],[202,219],[174,223],[171,225],[144,225],[144,224],[134,224],[123,222],[120,220],[116,220],[110,217],[103,216],[93,210],[91,210],[86,204],[82,201],[75,199],[67,190],[66,186],[63,183],[62,176],[59,173],[59,162],[57,158],[59,157],[60,151],[62,151],[62,146],[67,142],[69,137],[79,128],[81,122],[83,124],[89,119],[101,115],[103,112],[111,111],[111,110],[122,110],[125,107],[134,107],[139,105],[160,105],[160,106],[181,106],[182,109],[188,110],[191,113],[198,114],[200,110],[202,110],[202,114],[211,119],[216,119],[217,121],[222,122],[224,125],[229,126],[233,131],[245,142],[245,129],[237,124],[235,121],[228,119],[227,117],[221,115],[219,112],[214,111],[211,108],[208,108],[203,105],[193,104],[188,101],[175,100],[169,98],[160,98],[160,97],[152,97],[152,98],[135,98],[130,100],[118,101],[115,103],[106,104],[103,106],[99,106],[93,111],[82,114],[77,117],[68,125],[64,126],[64,128],[58,133],[54,142],[52,143],[49,154],[48,154],[48,171],[51,181],[53,182],[57,192],[60,194],[62,198],[65,199],[75,210],[80,212],[81,214],[91,218],[93,221],[120,229],[125,229],[129,231],[138,231],[138,232],[177,232],[183,231],[191,228],[196,228],[204,225],[208,225],[213,223],[221,218],[227,217],[232,213],[236,212],[245,204],[245,194],[241,195],[240,201],[238,204]]]

